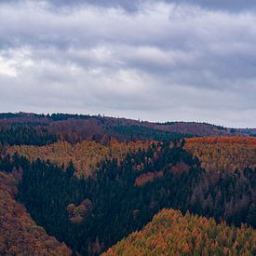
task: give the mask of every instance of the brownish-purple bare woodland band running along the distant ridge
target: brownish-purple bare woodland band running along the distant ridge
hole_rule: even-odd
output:
[[[90,116],[87,119],[68,118],[67,120],[53,121],[47,116],[40,118],[34,114],[21,113],[13,118],[0,118],[0,128],[10,127],[17,123],[37,124],[36,127],[45,126],[48,131],[58,134],[61,140],[70,142],[84,141],[92,135],[104,136],[107,128],[118,126],[137,126],[143,128],[155,128],[164,131],[179,132],[183,134],[194,134],[198,136],[231,136],[235,134],[255,134],[255,129],[236,129],[233,132],[229,128],[220,128],[206,123],[174,122],[169,124],[158,124],[141,122],[127,118],[114,118],[103,116]],[[117,136],[117,134],[108,133]],[[117,136],[118,137],[118,136]],[[115,137],[115,138],[117,138]]]

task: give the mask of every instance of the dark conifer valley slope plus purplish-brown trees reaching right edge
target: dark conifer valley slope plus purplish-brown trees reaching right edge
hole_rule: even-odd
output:
[[[164,208],[256,227],[255,169],[206,173],[182,143],[158,142],[119,164],[103,161],[93,179],[19,155],[2,156],[0,168],[23,169],[20,202],[47,234],[82,255],[98,255]]]

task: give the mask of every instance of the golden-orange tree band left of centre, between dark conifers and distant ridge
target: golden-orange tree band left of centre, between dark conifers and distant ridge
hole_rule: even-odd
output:
[[[70,161],[74,163],[77,176],[95,175],[101,161],[116,159],[118,163],[128,154],[137,152],[139,149],[147,150],[152,142],[150,141],[128,141],[118,142],[116,140],[106,141],[105,144],[96,141],[82,141],[71,144],[67,141],[37,147],[37,146],[13,146],[7,149],[10,155],[16,152],[26,156],[30,161],[36,158],[50,160],[52,163],[67,168]]]

